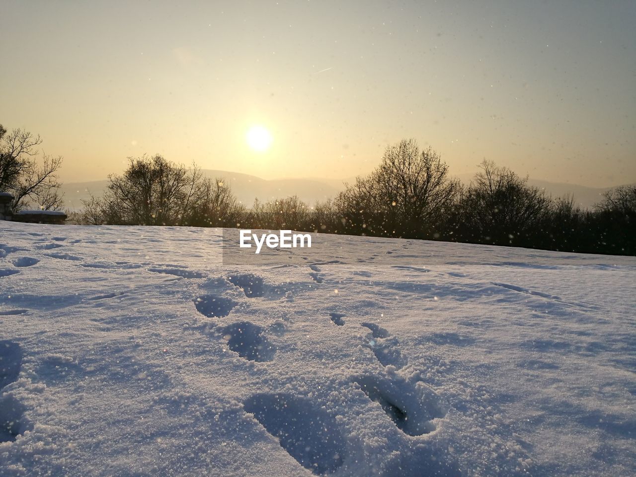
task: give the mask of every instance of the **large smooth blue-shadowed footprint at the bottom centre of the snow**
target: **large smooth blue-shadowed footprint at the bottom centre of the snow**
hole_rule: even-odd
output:
[[[243,407],[305,469],[325,475],[342,466],[345,439],[324,406],[291,394],[256,394]]]

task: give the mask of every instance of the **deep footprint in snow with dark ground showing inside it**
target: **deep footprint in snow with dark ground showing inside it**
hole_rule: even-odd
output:
[[[436,429],[433,420],[446,415],[439,397],[424,383],[413,386],[404,378],[361,376],[354,380],[366,396],[380,404],[397,429],[421,436]]]

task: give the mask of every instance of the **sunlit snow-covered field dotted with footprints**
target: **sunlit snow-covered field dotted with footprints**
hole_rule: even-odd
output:
[[[321,239],[0,222],[0,475],[636,474],[635,258]]]

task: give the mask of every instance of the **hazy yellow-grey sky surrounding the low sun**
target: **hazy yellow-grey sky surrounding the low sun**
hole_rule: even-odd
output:
[[[66,181],[143,153],[351,177],[415,137],[455,174],[612,186],[636,181],[634,24],[633,0],[4,0],[0,123]]]

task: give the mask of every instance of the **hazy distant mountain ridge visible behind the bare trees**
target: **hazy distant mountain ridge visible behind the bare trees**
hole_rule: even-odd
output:
[[[252,205],[256,198],[261,202],[266,202],[291,195],[297,195],[304,202],[314,204],[317,200],[324,201],[328,198],[336,197],[338,192],[343,190],[345,182],[351,183],[355,180],[354,178],[343,179],[342,181],[335,179],[266,180],[250,176],[249,174],[240,174],[239,172],[227,170],[204,169],[202,172],[207,177],[223,178],[225,183],[230,185],[238,200],[245,205]],[[474,176],[473,174],[460,174],[456,177],[467,184]],[[107,183],[108,181],[104,180],[64,184],[62,190],[64,191],[64,202],[67,209],[81,209],[83,207],[81,200],[88,198],[90,193],[95,195],[95,197],[100,197],[106,190]],[[609,188],[593,188],[537,179],[529,179],[529,184],[543,188],[552,197],[563,197],[566,194],[574,195],[576,204],[583,208],[591,208],[592,205],[602,199],[602,194],[609,190]]]

